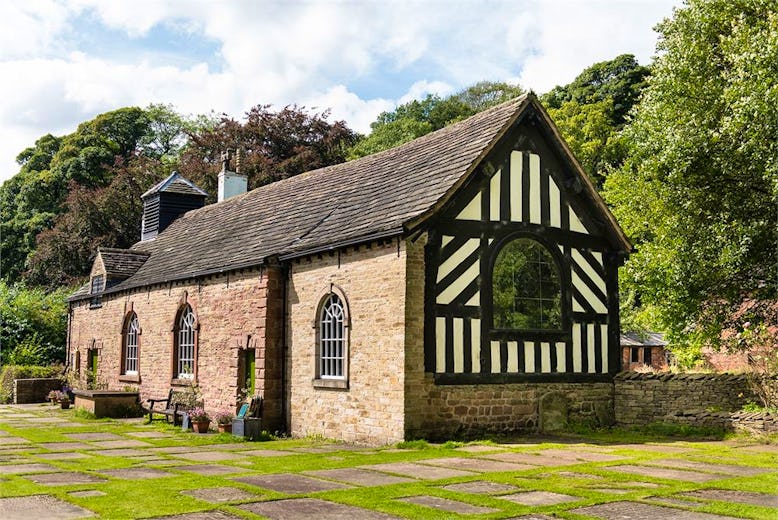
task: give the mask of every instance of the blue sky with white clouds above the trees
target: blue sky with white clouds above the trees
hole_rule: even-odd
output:
[[[46,134],[123,106],[240,117],[384,110],[477,81],[538,93],[632,53],[681,0],[10,0],[0,4],[0,181]]]

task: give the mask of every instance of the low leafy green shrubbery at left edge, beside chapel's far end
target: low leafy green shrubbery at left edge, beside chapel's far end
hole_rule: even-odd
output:
[[[0,280],[0,363],[65,360],[68,289],[45,292]]]

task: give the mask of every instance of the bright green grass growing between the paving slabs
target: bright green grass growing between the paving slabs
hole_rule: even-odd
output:
[[[21,416],[20,416],[21,415]],[[182,432],[161,421],[147,424],[145,419],[90,420],[79,417],[73,410],[60,410],[51,405],[0,407],[0,499],[29,495],[51,495],[62,501],[88,509],[102,518],[145,518],[182,514],[197,511],[218,510],[242,518],[260,518],[240,509],[245,503],[299,497],[315,497],[322,500],[358,506],[402,518],[513,518],[529,513],[546,514],[559,518],[588,518],[572,512],[579,507],[616,501],[636,501],[658,504],[668,502],[671,507],[697,512],[714,513],[739,518],[776,519],[778,509],[731,501],[687,498],[686,506],[678,503],[679,493],[701,489],[737,490],[775,495],[778,490],[778,451],[774,444],[778,439],[752,439],[728,437],[719,439],[673,438],[644,432],[591,432],[586,436],[569,436],[553,439],[517,438],[511,442],[476,443],[449,442],[430,445],[425,442],[401,443],[380,448],[355,448],[325,439],[277,439],[266,442],[246,443],[230,434],[199,435]],[[30,417],[27,417],[30,416]],[[61,419],[61,420],[60,420]],[[51,420],[52,422],[45,422]],[[43,422],[42,422],[43,421]],[[110,449],[112,444],[103,441],[74,440],[69,434],[86,432],[112,433],[117,440],[141,441],[147,445],[129,448],[133,452],[97,454]],[[150,432],[164,437],[149,438]],[[132,435],[132,434],[140,434]],[[152,433],[153,435],[153,433]],[[17,440],[13,440],[17,438]],[[4,440],[6,439],[6,440]],[[11,439],[8,442],[7,439]],[[29,442],[23,442],[29,441]],[[78,442],[68,450],[82,454],[83,458],[50,459],[54,451],[41,444]],[[230,444],[230,446],[224,446]],[[209,445],[218,445],[208,450]],[[753,445],[753,446],[751,446]],[[479,446],[474,448],[474,446]],[[159,452],[156,448],[179,447],[184,454]],[[49,447],[51,448],[51,447]],[[118,448],[121,449],[121,448]],[[275,456],[266,453],[241,454],[245,450],[277,451]],[[252,475],[276,473],[303,473],[318,470],[355,468],[367,465],[417,462],[447,457],[484,458],[492,453],[538,453],[545,450],[561,454],[562,465],[534,465],[519,471],[481,472],[442,480],[417,480],[382,486],[353,485],[348,489],[320,491],[317,493],[290,495],[234,480]],[[558,451],[562,450],[562,451]],[[197,462],[187,458],[199,453],[234,453],[229,460]],[[604,454],[623,457],[623,460],[590,461],[576,459],[576,453]],[[78,456],[78,455],[76,455]],[[200,457],[205,455],[195,455]],[[564,457],[570,457],[564,458]],[[147,460],[153,459],[153,460]],[[619,473],[610,466],[650,465],[652,461],[673,459],[679,465],[688,461],[717,465],[737,465],[762,469],[759,475],[717,475],[708,482],[668,480],[646,475]],[[50,486],[35,483],[34,473],[15,474],[8,471],[16,465],[48,464],[50,472],[74,472],[78,475],[102,477],[105,481],[86,484]],[[224,475],[199,475],[181,467],[192,464],[214,464],[235,469]],[[675,464],[662,463],[665,467]],[[457,469],[456,464],[451,469]],[[126,479],[107,476],[105,471],[126,468],[156,468],[170,476],[147,479]],[[703,473],[710,472],[705,470]],[[748,471],[745,471],[746,473]],[[406,475],[407,477],[407,475]],[[548,491],[571,495],[577,499],[558,505],[528,506],[500,498],[500,494],[474,494],[444,489],[453,483],[488,481],[515,487],[515,492]],[[245,500],[214,503],[182,494],[185,490],[230,487],[250,493]],[[77,491],[98,491],[100,496],[74,496]],[[430,507],[415,505],[400,499],[414,496],[432,496],[454,500],[474,506],[488,507],[495,512],[458,515]],[[0,506],[2,511],[2,506]],[[0,515],[2,516],[2,515]]]

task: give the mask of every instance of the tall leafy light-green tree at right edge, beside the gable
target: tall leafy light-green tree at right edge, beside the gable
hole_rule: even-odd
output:
[[[629,159],[605,196],[637,244],[628,299],[691,359],[743,301],[777,296],[778,11],[689,0],[658,31]]]

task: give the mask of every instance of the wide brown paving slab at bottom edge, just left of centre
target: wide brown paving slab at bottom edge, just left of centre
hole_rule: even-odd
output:
[[[274,500],[272,502],[254,502],[237,506],[251,511],[270,520],[299,520],[315,518],[316,520],[399,520],[396,516],[378,511],[347,506],[317,498],[297,498],[289,500]]]

